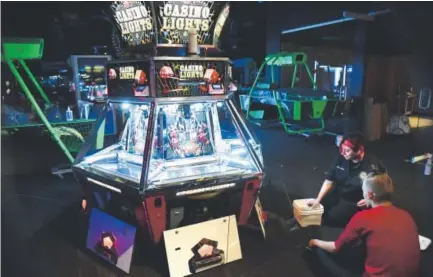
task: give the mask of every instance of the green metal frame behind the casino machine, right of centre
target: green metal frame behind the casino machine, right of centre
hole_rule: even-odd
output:
[[[257,86],[257,82],[259,80],[260,74],[262,73],[263,69],[265,68],[265,66],[270,66],[271,67],[271,81],[272,83],[275,82],[275,66],[293,66],[293,76],[292,76],[292,81],[291,81],[291,85],[290,88],[294,88],[295,87],[295,83],[296,83],[296,75],[298,73],[299,67],[303,66],[305,68],[305,70],[307,71],[309,80],[311,82],[311,84],[313,85],[313,89],[316,90],[317,89],[317,84],[314,81],[313,75],[310,71],[310,68],[308,67],[307,64],[307,54],[303,53],[303,52],[280,52],[280,53],[276,53],[276,54],[271,54],[265,57],[264,62],[262,63],[262,65],[259,68],[259,71],[257,72],[257,76],[256,79],[253,82],[253,85],[250,89],[249,92],[249,103],[251,103],[251,99],[252,99],[252,94],[253,91],[255,90],[256,86]],[[278,117],[279,117],[279,121],[280,123],[283,125],[284,130],[289,133],[289,134],[305,134],[305,133],[316,133],[316,132],[322,132],[325,129],[325,122],[323,120],[322,117],[322,113],[326,107],[326,105],[328,104],[328,100],[313,100],[312,105],[313,105],[313,114],[312,117],[313,119],[317,119],[319,120],[320,123],[320,127],[317,128],[304,128],[304,129],[299,129],[299,130],[294,130],[293,128],[290,128],[290,124],[286,122],[285,118],[284,118],[284,113],[283,113],[283,107],[281,105],[280,99],[279,97],[277,97],[277,91],[275,89],[272,90],[272,98],[275,100],[276,106],[277,106],[277,110],[278,110]],[[294,120],[301,120],[301,103],[302,102],[311,102],[311,101],[302,101],[302,100],[293,100],[294,101],[294,111],[293,111],[293,119]],[[246,113],[246,118],[249,120],[250,119],[250,107],[251,105],[248,105],[247,107],[247,113]],[[334,112],[335,112],[335,108],[334,108]]]

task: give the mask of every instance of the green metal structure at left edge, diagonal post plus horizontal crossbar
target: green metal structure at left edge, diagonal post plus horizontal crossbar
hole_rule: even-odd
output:
[[[44,100],[45,104],[51,105],[51,101],[48,96],[45,94],[39,82],[36,80],[35,76],[30,71],[29,67],[26,64],[26,60],[40,60],[43,55],[44,50],[44,40],[42,38],[2,38],[2,52],[1,59],[2,62],[5,62],[9,69],[11,70],[13,76],[17,80],[18,84],[22,88],[27,100],[30,102],[32,108],[38,115],[42,124],[26,124],[26,125],[17,125],[17,126],[2,126],[2,129],[20,129],[24,127],[45,127],[53,140],[60,147],[62,152],[66,155],[68,161],[72,164],[74,162],[74,157],[72,152],[76,151],[79,146],[72,146],[72,143],[68,141],[63,141],[62,136],[66,133],[72,137],[78,138],[79,142],[84,141],[83,135],[77,131],[78,127],[86,126],[90,130],[90,125],[93,124],[94,120],[74,120],[71,122],[61,122],[61,123],[50,123],[46,118],[44,112],[39,107],[36,99],[31,93],[30,89],[26,85],[23,77],[20,72],[17,70],[14,62],[18,62],[21,67],[24,69],[26,75],[36,87],[36,90],[39,92],[40,96]],[[89,125],[90,124],[90,125]],[[67,126],[74,126],[66,127]],[[76,143],[75,143],[76,144]],[[69,146],[69,147],[68,147]]]

